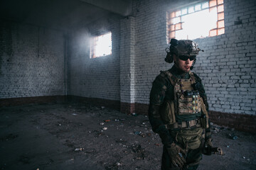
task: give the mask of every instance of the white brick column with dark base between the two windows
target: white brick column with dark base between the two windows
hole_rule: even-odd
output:
[[[135,57],[135,19],[132,16],[121,20],[120,40],[120,110],[134,113],[134,57]]]

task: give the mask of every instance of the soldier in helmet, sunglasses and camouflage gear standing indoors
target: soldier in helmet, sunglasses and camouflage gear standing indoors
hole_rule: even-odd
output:
[[[200,49],[192,40],[171,39],[166,62],[150,92],[149,121],[164,145],[161,169],[197,169],[212,147],[208,103],[201,79],[193,72]]]

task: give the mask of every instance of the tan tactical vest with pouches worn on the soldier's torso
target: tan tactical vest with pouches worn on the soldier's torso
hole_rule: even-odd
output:
[[[171,84],[174,86],[174,101],[167,101],[169,109],[165,106],[162,117],[167,120],[166,128],[191,128],[193,126],[208,128],[208,113],[206,106],[203,103],[203,98],[200,96],[198,90],[193,86],[196,84],[196,77],[193,72],[189,72],[189,79],[178,79],[170,72],[166,71],[164,74],[169,77]],[[201,118],[196,120],[182,121],[181,124],[176,123],[177,115],[193,115],[203,113]],[[166,119],[166,115],[168,115]]]

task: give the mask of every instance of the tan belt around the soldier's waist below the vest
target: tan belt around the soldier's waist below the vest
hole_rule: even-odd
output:
[[[201,122],[199,119],[182,121],[181,123],[173,123],[165,125],[166,129],[176,129],[176,128],[200,128]]]

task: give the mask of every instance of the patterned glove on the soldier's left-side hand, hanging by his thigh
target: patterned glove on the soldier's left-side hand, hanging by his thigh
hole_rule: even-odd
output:
[[[172,143],[171,145],[167,145],[166,149],[169,156],[171,157],[172,164],[181,168],[186,163],[186,159],[184,157],[184,155],[186,155],[186,152],[181,149],[181,147],[179,147],[175,143]]]

